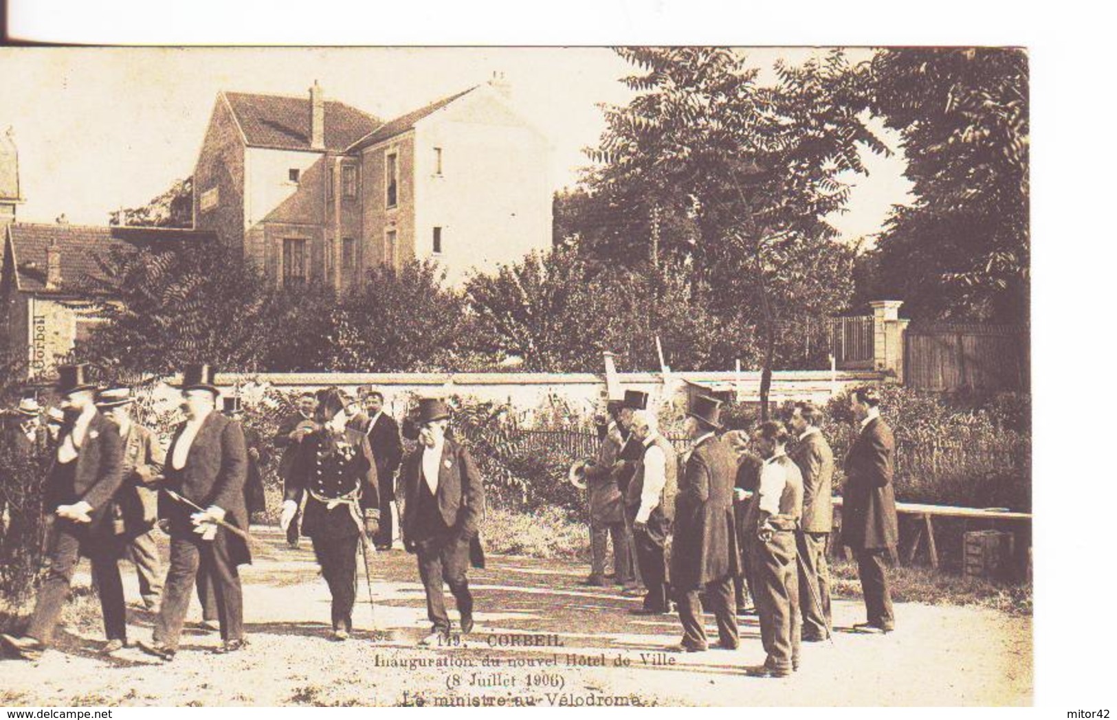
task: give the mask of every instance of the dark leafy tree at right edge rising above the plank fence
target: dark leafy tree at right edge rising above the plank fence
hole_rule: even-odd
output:
[[[872,61],[873,111],[900,131],[916,202],[878,243],[880,287],[918,317],[1028,319],[1028,57],[897,48]]]

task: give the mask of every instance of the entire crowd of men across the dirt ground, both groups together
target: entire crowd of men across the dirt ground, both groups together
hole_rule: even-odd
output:
[[[238,567],[251,559],[248,519],[262,509],[258,464],[266,449],[241,422],[239,397],[225,397],[223,412],[216,412],[221,394],[213,367],[185,367],[185,420],[164,451],[132,415],[130,388],[98,390],[86,367],[75,365],[59,368],[56,390],[59,412],[44,414],[31,400],[17,409],[20,447],[50,458],[50,565],[27,631],[0,640],[19,657],[37,657],[50,643],[75,566],[88,557],[104,616],[104,652],[126,646],[118,560],[127,557],[137,567],[144,603],[157,613],[151,641],[140,643],[145,652],[174,659],[194,592],[203,618],[220,631],[214,652],[244,649]],[[293,545],[299,534],[311,538],[333,597],[331,637],[344,641],[352,632],[357,556],[367,574],[373,546],[392,547],[397,497],[403,546],[417,557],[431,623],[420,644],[442,644],[451,633],[443,584],[455,597],[460,632],[469,633],[468,569],[484,567],[485,491],[468,449],[450,432],[447,404],[419,401],[402,430],[416,441],[405,458],[400,425],[373,388],[351,399],[327,387],[304,393],[296,405],[273,439],[283,452],[280,527]],[[841,537],[856,554],[865,593],[868,618],[856,628],[887,633],[895,627],[885,570],[897,541],[895,443],[878,405],[871,387],[850,395],[861,429],[846,458]],[[677,454],[659,433],[646,393],[628,391],[611,401],[598,419],[599,454],[580,469],[590,498],[586,584],[607,584],[611,537],[615,582],[626,595],[642,597],[632,612],[669,613],[674,601],[682,625],[675,650],[710,646],[704,604],[717,622],[717,646],[727,650],[739,644],[737,615],[755,612],[767,657],[748,672],[794,672],[801,640],[831,633],[833,455],[820,419],[815,406],[796,403],[787,426],[764,422],[745,438],[722,426],[718,400],[698,396],[687,412],[688,447]],[[162,582],[156,522],[170,536]],[[754,609],[745,606],[745,586]]]

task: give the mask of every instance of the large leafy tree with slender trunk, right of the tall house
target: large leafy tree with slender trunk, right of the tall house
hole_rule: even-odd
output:
[[[717,289],[718,317],[761,327],[766,413],[782,318],[840,310],[852,291],[852,256],[825,218],[848,200],[841,174],[865,173],[859,148],[887,152],[866,126],[865,70],[834,50],[779,63],[762,86],[728,49],[618,52],[640,70],[623,79],[640,95],[605,108],[589,185],[648,218],[649,232],[632,233],[647,252],[613,256],[677,256]]]

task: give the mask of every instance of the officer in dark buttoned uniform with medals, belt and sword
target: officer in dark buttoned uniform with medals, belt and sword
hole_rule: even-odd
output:
[[[341,392],[318,391],[317,401],[318,428],[299,443],[284,488],[279,526],[287,529],[306,495],[303,535],[311,538],[330,586],[332,637],[344,641],[353,632],[357,544],[364,544],[361,551],[367,553],[369,538],[379,529],[376,464],[364,433],[346,428]]]

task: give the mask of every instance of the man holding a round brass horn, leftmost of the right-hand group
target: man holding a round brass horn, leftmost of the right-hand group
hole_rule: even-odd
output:
[[[585,585],[605,585],[605,549],[609,536],[613,538],[613,570],[621,585],[634,583],[632,558],[629,553],[631,540],[624,524],[624,496],[617,484],[615,464],[624,438],[617,424],[622,401],[610,400],[605,412],[594,417],[601,445],[596,459],[585,465],[585,483],[590,506],[590,576]]]

